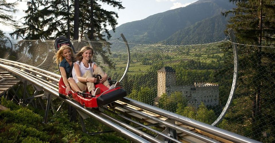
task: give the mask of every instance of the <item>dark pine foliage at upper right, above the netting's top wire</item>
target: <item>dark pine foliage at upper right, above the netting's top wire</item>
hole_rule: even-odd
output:
[[[230,0],[235,2],[235,0]],[[256,42],[260,44],[259,36],[263,41],[274,42],[275,23],[274,12],[275,4],[273,0],[266,0],[260,4],[260,1],[250,0],[236,3],[237,7],[226,11],[223,15],[233,13],[229,19],[228,28],[232,28],[239,42]],[[262,9],[262,14],[261,14]],[[260,17],[262,16],[262,25],[260,29]]]

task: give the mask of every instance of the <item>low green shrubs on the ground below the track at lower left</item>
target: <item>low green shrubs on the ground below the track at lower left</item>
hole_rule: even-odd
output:
[[[116,133],[87,135],[82,132],[79,122],[69,122],[66,111],[57,112],[48,124],[42,124],[43,117],[19,107],[0,111],[0,142],[127,142]],[[92,129],[91,132],[109,130],[95,119],[91,120],[85,120],[86,129]]]

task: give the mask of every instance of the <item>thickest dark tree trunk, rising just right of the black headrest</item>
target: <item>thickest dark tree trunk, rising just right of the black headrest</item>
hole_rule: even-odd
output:
[[[74,1],[74,39],[79,35],[79,0]]]

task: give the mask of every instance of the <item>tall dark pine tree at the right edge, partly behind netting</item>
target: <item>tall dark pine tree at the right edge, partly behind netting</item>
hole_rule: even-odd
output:
[[[261,140],[264,132],[274,130],[272,123],[274,111],[274,46],[275,41],[275,3],[273,0],[229,0],[237,7],[223,13],[233,13],[228,28],[235,31],[240,43],[257,46],[239,46],[239,96],[248,96],[252,101],[252,138]],[[270,92],[271,90],[271,92]],[[272,93],[273,91],[273,93]],[[238,96],[237,95],[237,96]],[[263,104],[264,103],[264,104]],[[272,134],[272,133],[271,133]],[[274,133],[273,133],[274,134]]]

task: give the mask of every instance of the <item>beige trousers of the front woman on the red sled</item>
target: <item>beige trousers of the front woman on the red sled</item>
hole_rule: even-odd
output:
[[[91,70],[87,70],[86,73],[82,77],[90,78],[90,77],[95,77],[96,75],[101,75],[101,77],[104,76],[104,72],[103,72],[102,68],[99,66],[95,69],[95,71],[93,73]],[[95,83],[90,83],[90,82],[86,83],[86,82],[78,81],[78,83],[76,83],[76,84],[78,85],[78,87],[81,91],[86,90],[87,88],[88,88],[89,92],[92,90],[95,90]],[[104,81],[103,85],[105,85],[105,86],[109,85],[108,80]]]

